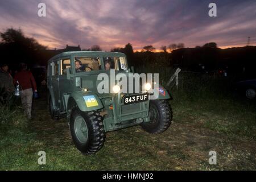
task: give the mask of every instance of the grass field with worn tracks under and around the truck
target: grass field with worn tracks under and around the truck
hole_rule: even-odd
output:
[[[186,84],[187,85],[187,84]],[[190,90],[190,91],[189,91]],[[214,86],[172,91],[171,127],[151,135],[140,126],[106,134],[104,147],[82,155],[65,119],[49,117],[46,100],[34,101],[34,119],[22,109],[1,109],[1,170],[255,170],[256,104],[216,93]],[[38,152],[46,152],[46,165]],[[217,164],[208,163],[209,151]]]

